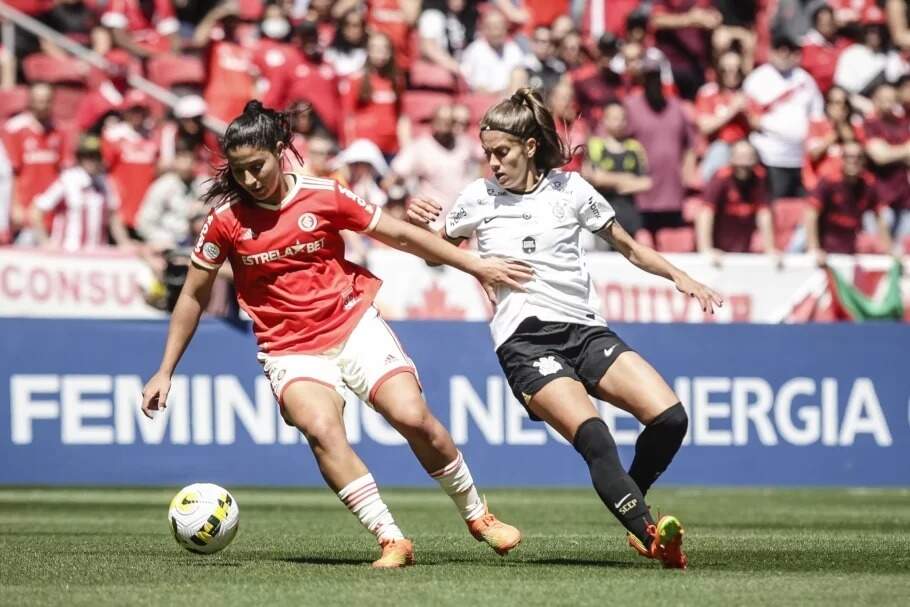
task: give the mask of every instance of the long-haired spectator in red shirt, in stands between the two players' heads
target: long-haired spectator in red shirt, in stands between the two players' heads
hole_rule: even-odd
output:
[[[401,116],[404,78],[395,64],[392,43],[381,33],[370,34],[367,62],[341,85],[346,141],[369,139],[386,157],[398,152],[406,137],[406,120]]]

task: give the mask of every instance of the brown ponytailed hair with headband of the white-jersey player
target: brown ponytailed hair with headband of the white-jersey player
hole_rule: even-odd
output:
[[[537,141],[534,166],[541,173],[561,167],[572,156],[568,144],[559,136],[553,113],[536,89],[523,88],[500,101],[480,121],[481,131],[502,131],[522,141]]]

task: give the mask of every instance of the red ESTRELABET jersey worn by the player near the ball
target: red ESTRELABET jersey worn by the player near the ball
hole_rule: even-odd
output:
[[[206,219],[193,262],[230,260],[263,352],[314,354],[344,341],[382,282],[344,258],[341,230],[369,232],[381,210],[331,179],[295,175],[281,204],[224,203]]]

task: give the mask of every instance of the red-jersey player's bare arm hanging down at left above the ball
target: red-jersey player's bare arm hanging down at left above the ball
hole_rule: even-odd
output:
[[[205,310],[215,283],[217,270],[204,270],[194,264],[186,275],[186,281],[177,297],[177,304],[171,314],[171,323],[168,327],[167,342],[164,346],[164,356],[161,366],[142,389],[142,412],[149,419],[155,416],[155,411],[167,407],[167,393],[171,389],[171,376],[183,352],[196,332],[199,317]]]

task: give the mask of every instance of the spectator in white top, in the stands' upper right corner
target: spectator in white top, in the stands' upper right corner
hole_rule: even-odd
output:
[[[894,82],[910,71],[907,62],[890,48],[884,13],[878,7],[872,9],[862,28],[862,40],[844,49],[834,71],[835,84],[863,97],[869,97],[878,83]]]

